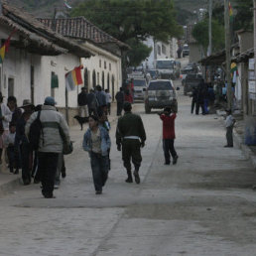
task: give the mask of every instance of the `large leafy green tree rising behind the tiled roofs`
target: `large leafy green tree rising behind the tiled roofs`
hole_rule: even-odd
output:
[[[144,61],[146,53],[149,56],[149,48],[141,44],[149,36],[166,42],[183,33],[176,21],[173,0],[84,0],[72,10],[71,16],[84,16],[130,45],[128,56],[132,65]],[[138,55],[138,49],[144,54]]]

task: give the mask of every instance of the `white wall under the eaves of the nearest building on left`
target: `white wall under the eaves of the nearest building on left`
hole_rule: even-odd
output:
[[[52,95],[58,106],[64,107],[64,74],[79,64],[79,58],[73,55],[41,57],[10,48],[1,65],[1,91],[5,100],[14,95],[19,106],[24,99],[30,99],[35,105],[43,104],[45,97]],[[52,72],[59,77],[59,88],[51,88]],[[77,90],[68,92],[69,107],[77,106]]]

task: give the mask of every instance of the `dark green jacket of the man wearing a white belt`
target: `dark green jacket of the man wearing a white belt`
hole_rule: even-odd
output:
[[[116,144],[120,144],[124,137],[138,136],[141,142],[146,141],[146,132],[142,119],[139,115],[126,112],[118,119],[116,127]]]

